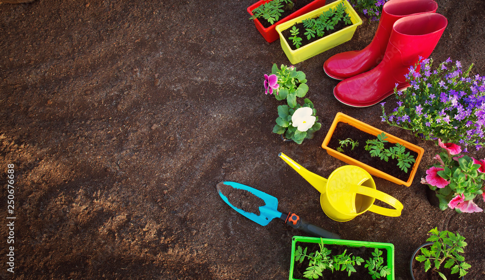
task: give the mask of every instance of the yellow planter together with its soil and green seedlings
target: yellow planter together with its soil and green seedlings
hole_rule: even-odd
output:
[[[362,20],[346,0],[339,0],[276,26],[291,63],[302,62],[352,39]]]

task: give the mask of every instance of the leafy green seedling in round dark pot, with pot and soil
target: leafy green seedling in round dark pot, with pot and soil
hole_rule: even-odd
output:
[[[428,242],[422,244],[411,256],[411,278],[426,280],[437,274],[444,280],[464,279],[467,269],[471,267],[461,255],[467,246],[465,237],[459,233],[438,231],[437,228],[429,233],[430,237],[426,239]]]

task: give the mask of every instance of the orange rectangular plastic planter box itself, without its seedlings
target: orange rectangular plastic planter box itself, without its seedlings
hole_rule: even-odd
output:
[[[397,138],[393,135],[390,135],[390,134],[384,132],[386,134],[386,136],[388,137],[386,140],[388,140],[389,143],[391,143],[391,144],[399,143],[399,144],[403,145],[408,151],[410,151],[411,153],[414,153],[416,155],[415,156],[416,162],[411,166],[411,169],[408,170],[408,172],[406,173],[407,179],[400,179],[400,178],[397,178],[396,176],[393,176],[393,175],[391,175],[387,172],[382,171],[382,168],[387,167],[387,166],[393,167],[397,170],[399,170],[399,167],[393,166],[393,165],[389,164],[388,162],[386,162],[384,160],[380,160],[378,157],[372,157],[372,159],[382,161],[382,163],[381,163],[382,167],[380,167],[380,168],[372,167],[372,166],[370,166],[366,163],[363,163],[359,160],[356,160],[355,158],[352,158],[352,157],[347,156],[343,153],[340,153],[336,150],[336,148],[334,149],[331,146],[329,146],[329,142],[331,140],[332,140],[332,142],[335,141],[334,139],[332,139],[332,136],[336,132],[336,128],[337,128],[337,125],[339,123],[349,124],[350,128],[357,129],[359,131],[368,133],[368,134],[370,134],[371,136],[374,136],[374,137],[377,137],[377,135],[384,132],[384,131],[377,129],[377,128],[369,125],[369,124],[365,124],[361,121],[358,121],[358,120],[356,120],[356,119],[354,119],[350,116],[347,116],[347,115],[339,112],[335,116],[335,119],[334,119],[332,125],[330,126],[330,129],[329,129],[329,131],[328,131],[328,133],[325,137],[325,140],[323,140],[323,143],[322,143],[322,148],[325,149],[330,156],[336,157],[336,158],[338,158],[338,159],[340,159],[340,160],[342,160],[342,161],[344,161],[348,164],[361,167],[364,170],[366,170],[367,172],[371,173],[372,175],[386,179],[386,180],[393,182],[395,184],[404,185],[406,187],[411,186],[413,179],[414,179],[414,176],[416,174],[416,171],[418,170],[418,166],[420,164],[421,158],[424,154],[424,150],[421,147],[418,147],[414,144],[411,144],[407,141],[404,141],[400,138]],[[339,139],[339,140],[344,140],[346,138],[352,138],[352,134],[349,134],[347,137],[344,137],[343,139]],[[360,145],[363,148],[365,146],[365,141],[363,143],[360,143]],[[365,153],[362,153],[362,154],[366,154],[366,153],[368,154],[369,152],[366,151]],[[391,159],[389,159],[389,162],[390,161],[391,161]]]

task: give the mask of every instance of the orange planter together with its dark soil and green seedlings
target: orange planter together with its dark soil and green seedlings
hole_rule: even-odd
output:
[[[366,145],[354,145],[353,150],[344,148],[340,141],[347,138]],[[343,113],[337,113],[322,147],[330,156],[407,187],[424,154],[422,148]]]

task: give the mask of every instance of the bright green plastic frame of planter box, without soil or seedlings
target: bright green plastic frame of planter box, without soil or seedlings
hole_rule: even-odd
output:
[[[322,238],[323,244],[328,245],[341,245],[347,247],[367,247],[367,248],[377,248],[387,250],[387,263],[386,265],[391,268],[391,274],[387,276],[387,280],[394,280],[394,245],[390,243],[378,243],[378,242],[364,242],[364,241],[354,241],[354,240],[341,240],[341,239],[326,239]],[[290,280],[307,280],[305,279],[295,279],[293,278],[293,271],[295,269],[295,249],[297,247],[297,242],[305,243],[320,243],[320,238],[317,237],[305,237],[305,236],[293,236],[291,241],[291,264],[290,264]],[[302,244],[300,244],[302,246]],[[302,246],[305,247],[305,246]],[[365,269],[364,264],[356,266],[356,269]],[[381,278],[384,279],[384,278]]]

